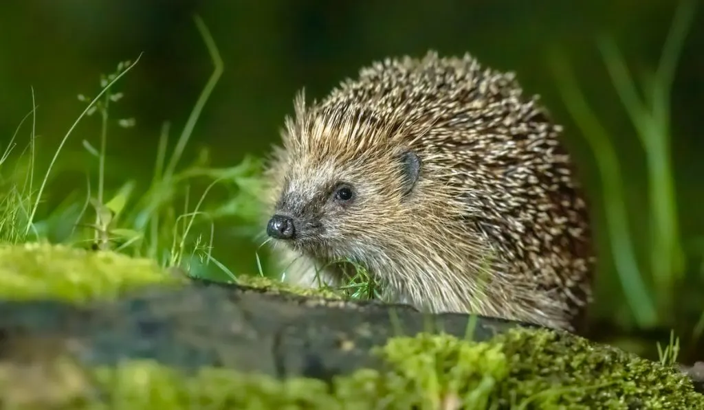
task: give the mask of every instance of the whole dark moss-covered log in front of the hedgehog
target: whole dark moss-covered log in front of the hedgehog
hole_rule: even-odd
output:
[[[0,247],[1,407],[704,409],[673,366],[569,333],[262,281],[184,286],[149,260]]]

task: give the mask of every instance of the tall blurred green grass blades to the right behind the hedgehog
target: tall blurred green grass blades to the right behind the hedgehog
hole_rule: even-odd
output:
[[[649,198],[646,225],[650,240],[645,250],[646,263],[638,262],[629,226],[620,158],[611,143],[616,135],[610,133],[593,112],[565,60],[555,56],[553,69],[565,106],[591,146],[601,176],[606,235],[621,283],[620,294],[629,308],[627,323],[639,328],[679,326],[679,330],[689,326],[688,331],[695,328],[693,335],[699,338],[704,314],[699,326],[693,323],[682,326],[683,323],[676,320],[681,316],[677,310],[677,295],[700,274],[700,269],[686,264],[693,255],[686,255],[682,244],[670,150],[670,94],[695,7],[695,1],[681,2],[665,40],[660,63],[654,72],[641,76],[644,80],[640,84],[631,77],[615,41],[606,36],[598,39],[605,69],[646,158]],[[700,305],[700,312],[703,312],[704,304]]]

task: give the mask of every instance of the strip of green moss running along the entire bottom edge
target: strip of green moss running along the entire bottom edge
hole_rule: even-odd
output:
[[[51,396],[57,410],[704,409],[704,396],[675,369],[551,331],[510,331],[489,342],[420,334],[391,339],[376,354],[384,359],[381,370],[360,369],[330,384],[211,368],[184,376],[149,360],[89,376],[64,363],[68,374],[43,379],[61,386],[73,380],[70,389],[31,383],[63,392]],[[27,391],[17,380],[13,388]],[[27,395],[8,393],[0,385],[0,397],[39,409]]]

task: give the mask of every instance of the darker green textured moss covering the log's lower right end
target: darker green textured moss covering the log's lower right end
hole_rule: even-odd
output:
[[[510,360],[503,397],[548,409],[704,409],[704,395],[672,366],[569,333],[515,329],[495,340]]]

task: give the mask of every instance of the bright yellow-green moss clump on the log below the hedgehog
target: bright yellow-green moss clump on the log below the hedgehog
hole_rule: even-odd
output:
[[[449,335],[393,338],[375,350],[384,369],[337,378],[335,393],[367,409],[382,403],[387,409],[487,409],[498,403],[496,392],[510,370],[502,350],[500,343]]]

